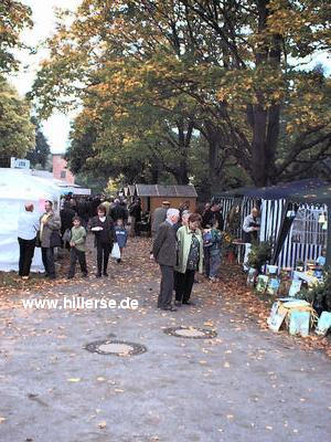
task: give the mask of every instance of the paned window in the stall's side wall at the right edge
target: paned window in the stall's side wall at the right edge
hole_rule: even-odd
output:
[[[299,209],[292,224],[291,241],[301,244],[324,245],[327,231],[319,223],[322,209]]]

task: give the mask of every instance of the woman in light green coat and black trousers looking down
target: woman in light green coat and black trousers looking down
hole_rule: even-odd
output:
[[[178,281],[175,286],[177,304],[191,304],[192,287],[195,271],[203,271],[203,241],[200,231],[201,215],[192,213],[189,225],[183,225],[177,232],[178,239]]]

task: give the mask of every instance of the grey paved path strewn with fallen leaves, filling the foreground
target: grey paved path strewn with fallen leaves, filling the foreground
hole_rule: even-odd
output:
[[[134,245],[134,246],[132,246]],[[330,360],[263,332],[222,294],[194,286],[196,307],[156,309],[158,270],[135,241],[116,278],[22,292],[0,309],[1,442],[269,442],[331,440]],[[129,264],[139,263],[129,272]],[[127,278],[127,283],[126,283]],[[24,309],[21,299],[137,298],[137,311]],[[1,302],[0,302],[1,306]],[[174,326],[214,339],[166,335]],[[84,349],[111,338],[138,356]]]

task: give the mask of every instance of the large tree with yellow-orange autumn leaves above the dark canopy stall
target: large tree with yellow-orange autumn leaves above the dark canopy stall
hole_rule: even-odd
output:
[[[330,156],[330,80],[298,70],[329,46],[328,11],[313,0],[85,0],[50,42],[34,94],[44,113],[71,94],[132,118],[137,104],[173,118],[194,108],[212,181],[224,159],[258,186],[300,176]]]

